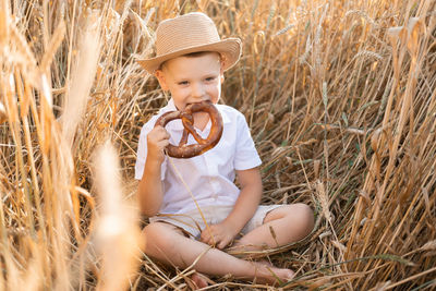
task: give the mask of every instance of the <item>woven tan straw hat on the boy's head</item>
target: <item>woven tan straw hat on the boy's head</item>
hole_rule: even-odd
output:
[[[182,54],[217,51],[223,60],[223,70],[233,66],[241,56],[239,38],[220,39],[215,23],[204,13],[193,12],[165,20],[156,29],[156,57],[138,59],[144,69],[154,74],[160,64]]]

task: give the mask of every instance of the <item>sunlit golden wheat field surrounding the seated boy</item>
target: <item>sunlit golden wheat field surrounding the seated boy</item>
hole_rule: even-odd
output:
[[[135,59],[191,11],[243,41],[221,102],[249,121],[263,203],[316,214],[250,255],[295,270],[284,289],[436,289],[434,0],[2,0],[0,290],[190,288],[141,252],[133,166],[169,98]]]

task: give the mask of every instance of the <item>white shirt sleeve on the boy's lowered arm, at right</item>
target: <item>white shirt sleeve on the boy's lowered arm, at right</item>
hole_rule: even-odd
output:
[[[249,124],[245,117],[240,113],[238,118],[237,150],[234,156],[235,170],[249,170],[262,165],[257,154]]]

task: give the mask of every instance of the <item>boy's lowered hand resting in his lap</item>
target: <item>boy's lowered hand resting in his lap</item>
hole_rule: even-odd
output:
[[[209,229],[205,228],[202,231],[201,241],[222,250],[233,241],[237,234],[238,232],[235,232],[231,227],[221,222],[209,226]]]

